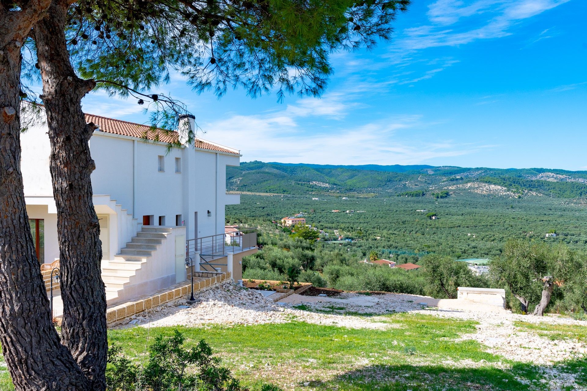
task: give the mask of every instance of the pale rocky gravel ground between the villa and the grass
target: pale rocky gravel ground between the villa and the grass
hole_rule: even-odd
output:
[[[377,315],[393,312],[414,312],[438,317],[471,319],[478,322],[475,334],[463,339],[474,339],[488,346],[488,352],[505,359],[531,362],[542,371],[541,382],[550,389],[582,389],[576,386],[574,375],[558,372],[556,362],[579,358],[587,353],[587,346],[571,340],[551,341],[537,333],[515,327],[515,321],[548,322],[548,324],[580,324],[587,322],[569,318],[538,318],[512,314],[501,308],[485,306],[462,300],[436,300],[406,294],[363,295],[343,293],[337,297],[290,295],[276,303],[264,297],[261,291],[248,290],[225,283],[207,291],[198,292],[197,302],[191,306],[185,302],[171,302],[151,311],[143,312],[130,322],[141,327],[202,326],[211,324],[264,324],[292,320],[315,324],[337,325],[349,328],[387,329],[393,327]],[[374,315],[362,317],[361,314]],[[129,327],[120,324],[118,327]],[[449,363],[448,366],[478,366],[483,362]],[[507,366],[505,363],[498,366]],[[523,381],[523,380],[522,380]]]

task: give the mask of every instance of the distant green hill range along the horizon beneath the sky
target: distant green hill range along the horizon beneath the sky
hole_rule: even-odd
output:
[[[422,191],[424,196],[438,198],[440,192],[446,191],[448,196],[471,193],[507,198],[580,198],[587,196],[587,171],[253,161],[227,167],[227,189],[294,195],[376,193],[405,196],[412,191]]]

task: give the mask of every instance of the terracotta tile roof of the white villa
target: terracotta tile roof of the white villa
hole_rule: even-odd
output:
[[[102,115],[85,115],[86,122],[94,123],[99,128],[98,130],[102,132],[120,134],[123,136],[136,138],[146,138],[147,140],[153,141],[177,142],[177,132],[175,131],[164,131],[160,128],[155,128],[155,130],[153,130],[147,125],[135,124],[123,120],[115,120],[114,118],[102,117]],[[211,142],[200,139],[195,140],[194,147],[238,155],[238,152],[233,149],[224,148],[220,145],[212,144]]]

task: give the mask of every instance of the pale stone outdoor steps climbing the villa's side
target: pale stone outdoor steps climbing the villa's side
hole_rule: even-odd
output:
[[[114,260],[102,267],[102,280],[106,285],[106,300],[109,304],[125,298],[124,288],[140,283],[137,276],[141,273],[141,268],[149,262],[170,233],[170,228],[143,226],[126,243],[126,247],[114,256]]]

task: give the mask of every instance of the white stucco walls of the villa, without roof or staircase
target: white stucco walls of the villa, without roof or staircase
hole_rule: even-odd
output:
[[[43,216],[52,224],[53,220],[56,222],[56,211],[52,200],[50,144],[46,132],[46,125],[38,125],[22,134],[21,169],[28,205],[45,205]],[[144,142],[100,131],[90,139],[90,151],[96,162],[92,173],[96,210],[111,215],[111,259],[130,239],[124,239],[129,234],[116,234],[119,227],[112,213],[117,212],[110,199],[116,200],[120,208],[127,209],[139,223],[143,222],[143,215],[152,215],[153,224],[158,225],[158,217],[165,216],[165,225],[174,226],[176,215],[181,215],[187,239],[223,234],[225,205],[239,202],[239,196],[227,195],[225,187],[226,166],[238,165],[238,156],[185,147],[168,152],[164,143]],[[160,155],[165,161],[164,172],[158,170]],[[181,158],[180,173],[176,172],[176,158]],[[211,216],[208,216],[208,210]],[[45,218],[39,215],[40,209],[31,209],[32,212],[37,215],[31,218]],[[198,232],[194,232],[195,212],[198,212]],[[54,251],[56,232],[50,227],[52,225],[46,229],[45,256],[46,259],[58,259],[59,251]],[[50,232],[55,232],[54,237]]]

